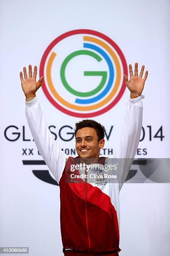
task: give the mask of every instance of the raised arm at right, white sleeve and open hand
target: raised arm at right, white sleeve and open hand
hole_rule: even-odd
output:
[[[130,90],[130,98],[126,105],[124,121],[113,154],[114,158],[121,159],[118,161],[120,163],[118,167],[120,189],[128,176],[140,141],[143,121],[142,99],[144,98],[144,95],[141,94],[148,76],[148,71],[146,71],[145,77],[142,79],[144,68],[142,66],[138,77],[138,63],[135,63],[135,75],[133,75],[132,65],[130,64],[130,81],[124,75],[125,84]]]

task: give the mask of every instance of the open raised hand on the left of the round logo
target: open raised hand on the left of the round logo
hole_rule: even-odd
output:
[[[25,80],[23,79],[23,72]],[[29,65],[29,77],[27,76],[26,67],[23,67],[23,72],[20,72],[21,86],[25,94],[26,101],[30,101],[35,98],[35,92],[37,92],[37,90],[41,87],[44,76],[40,77],[38,82],[36,82],[37,66],[34,67],[33,76],[31,65]]]

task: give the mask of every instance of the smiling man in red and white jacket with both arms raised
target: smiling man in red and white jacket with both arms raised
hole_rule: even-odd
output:
[[[130,81],[125,77],[125,84],[130,90],[125,119],[112,159],[123,159],[117,168],[117,182],[89,182],[87,176],[71,179],[72,166],[77,174],[94,172],[95,164],[106,166],[109,160],[100,157],[100,149],[105,140],[105,129],[94,120],[82,120],[76,123],[75,147],[78,156],[68,157],[61,151],[49,131],[40,103],[35,95],[40,88],[43,76],[36,83],[37,67],[29,65],[29,77],[26,68],[20,79],[26,97],[26,117],[30,131],[45,163],[60,185],[60,222],[63,252],[65,255],[111,255],[116,256],[119,248],[120,208],[119,192],[128,175],[135,157],[142,129],[143,104],[142,94],[148,71],[142,79],[144,66],[138,76],[138,63],[135,74],[129,65]],[[130,159],[130,161],[128,160]],[[85,164],[82,166],[82,164]],[[89,168],[89,166],[91,166]],[[100,171],[96,169],[96,172]],[[112,170],[112,172],[114,172]],[[80,182],[80,180],[82,182]],[[102,179],[99,179],[101,181]]]

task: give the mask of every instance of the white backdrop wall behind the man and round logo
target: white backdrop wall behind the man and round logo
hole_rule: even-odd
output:
[[[0,1],[0,246],[27,246],[31,256],[63,255],[59,187],[32,173],[32,170],[47,170],[47,166],[23,164],[23,160],[42,160],[42,157],[25,118],[25,97],[19,77],[28,64],[40,67],[45,49],[62,33],[75,29],[98,31],[120,47],[127,64],[134,66],[136,61],[140,67],[145,64],[149,71],[143,91],[145,138],[139,143],[136,158],[170,157],[169,8],[168,0]],[[129,95],[126,89],[117,105],[94,117],[105,125],[108,133],[113,125],[106,148],[114,146]],[[63,141],[58,133],[63,125],[73,127],[82,118],[57,110],[42,88],[37,97],[60,146],[74,148],[74,139]],[[151,138],[147,126],[151,126]],[[165,136],[162,141],[154,138],[161,126]],[[68,128],[63,129],[62,137],[68,138],[67,132]],[[123,185],[121,256],[169,255],[169,202],[170,184]]]

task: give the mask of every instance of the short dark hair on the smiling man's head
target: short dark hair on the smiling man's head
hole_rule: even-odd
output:
[[[100,123],[97,123],[95,120],[91,120],[91,119],[84,119],[78,123],[75,123],[75,129],[74,129],[75,136],[79,129],[82,129],[85,127],[90,127],[96,130],[98,141],[100,141],[105,137],[105,134],[106,134],[105,127]]]

